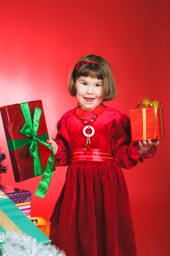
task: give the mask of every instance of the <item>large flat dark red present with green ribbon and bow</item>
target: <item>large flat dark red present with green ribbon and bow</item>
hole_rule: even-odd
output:
[[[35,195],[44,197],[54,171],[54,153],[41,100],[0,108],[16,182],[42,175]]]

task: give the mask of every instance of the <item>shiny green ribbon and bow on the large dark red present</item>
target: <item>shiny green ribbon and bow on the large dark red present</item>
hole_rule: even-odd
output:
[[[49,139],[48,133],[42,134],[41,136],[37,137],[40,116],[41,116],[41,112],[42,112],[41,109],[35,107],[33,123],[32,123],[28,103],[22,103],[20,105],[21,105],[21,108],[23,111],[23,116],[26,121],[26,123],[23,125],[23,128],[20,130],[20,133],[26,137],[29,137],[29,139],[8,140],[7,141],[8,149],[9,149],[9,151],[13,151],[13,150],[22,148],[23,146],[25,146],[27,144],[30,144],[29,152],[30,152],[31,156],[34,158],[35,177],[42,175],[42,168],[41,168],[40,158],[39,158],[39,154],[38,154],[37,141],[51,149],[51,154],[48,158],[47,166],[45,167],[44,174],[43,174],[40,184],[37,188],[37,191],[35,192],[35,195],[44,198],[45,194],[48,190],[48,186],[50,184],[51,177],[52,177],[53,171],[54,171],[53,149],[52,149],[51,145],[49,145],[48,143],[45,143],[45,141],[47,141]]]

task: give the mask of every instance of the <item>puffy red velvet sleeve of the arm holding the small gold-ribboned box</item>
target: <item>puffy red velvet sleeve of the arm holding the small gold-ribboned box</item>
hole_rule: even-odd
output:
[[[153,145],[147,154],[140,157],[138,141],[131,141],[130,119],[125,114],[121,115],[119,122],[112,128],[112,138],[114,158],[124,169],[131,169],[138,162],[142,163],[144,159],[152,158],[156,153],[156,147]]]

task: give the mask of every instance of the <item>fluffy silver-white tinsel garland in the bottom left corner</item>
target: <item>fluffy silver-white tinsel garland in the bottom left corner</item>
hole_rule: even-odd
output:
[[[55,246],[37,244],[36,239],[26,234],[0,233],[0,241],[5,241],[2,245],[2,256],[65,256],[65,253]]]

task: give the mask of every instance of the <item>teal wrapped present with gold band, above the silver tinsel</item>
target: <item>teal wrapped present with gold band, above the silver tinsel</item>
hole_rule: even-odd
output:
[[[0,233],[15,231],[26,233],[38,243],[50,244],[45,236],[26,215],[0,189]]]

